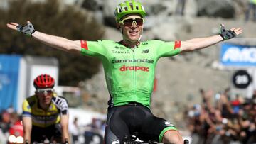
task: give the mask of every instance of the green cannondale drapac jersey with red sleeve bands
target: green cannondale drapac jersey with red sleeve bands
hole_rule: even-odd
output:
[[[149,40],[133,49],[112,40],[81,40],[82,55],[102,60],[112,105],[138,102],[150,107],[156,62],[180,53],[181,41]]]

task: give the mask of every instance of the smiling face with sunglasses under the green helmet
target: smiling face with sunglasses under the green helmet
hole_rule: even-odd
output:
[[[143,22],[144,20],[139,15],[124,16],[121,23],[123,39],[129,42],[137,42],[140,35],[142,35]]]

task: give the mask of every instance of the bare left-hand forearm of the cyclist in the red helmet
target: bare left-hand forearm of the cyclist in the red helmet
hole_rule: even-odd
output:
[[[23,117],[22,118],[23,124],[23,138],[24,143],[28,140],[28,143],[31,143],[31,131],[32,131],[32,119],[31,117]]]

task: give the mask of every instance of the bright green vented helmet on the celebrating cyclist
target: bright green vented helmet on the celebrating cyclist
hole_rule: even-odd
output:
[[[142,3],[139,1],[124,1],[123,3],[119,4],[114,11],[114,16],[116,21],[121,21],[122,17],[130,13],[137,13],[144,18],[146,16],[146,11],[142,6]]]

